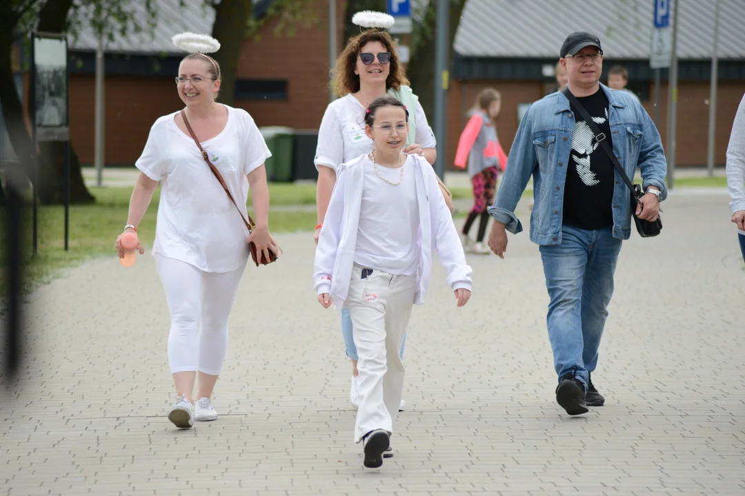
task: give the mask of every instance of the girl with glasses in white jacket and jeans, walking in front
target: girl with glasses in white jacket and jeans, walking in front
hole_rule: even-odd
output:
[[[320,304],[349,309],[352,318],[360,402],[354,440],[364,442],[367,468],[391,451],[405,379],[399,350],[411,309],[428,291],[434,251],[457,306],[471,296],[472,269],[437,175],[421,155],[402,152],[408,117],[394,97],[367,109],[374,149],[337,168],[314,266]]]

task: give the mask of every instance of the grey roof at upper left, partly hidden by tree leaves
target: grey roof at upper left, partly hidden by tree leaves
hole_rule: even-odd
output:
[[[256,0],[254,0],[256,1]],[[140,33],[129,30],[127,36],[115,33],[112,42],[105,41],[107,51],[127,53],[179,53],[179,49],[171,43],[171,36],[184,31],[193,33],[212,33],[212,23],[215,21],[215,9],[206,5],[202,0],[188,0],[184,7],[179,6],[179,0],[153,0],[158,15],[155,30],[148,28],[148,16],[144,1],[130,1],[134,12],[134,22],[142,28]],[[88,19],[86,14],[81,19]],[[77,37],[69,36],[69,45],[73,50],[95,50],[98,39],[95,30],[83,22]]]

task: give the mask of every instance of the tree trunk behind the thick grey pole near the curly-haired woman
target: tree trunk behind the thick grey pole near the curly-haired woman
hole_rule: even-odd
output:
[[[422,104],[422,108],[427,115],[427,120],[430,123],[434,123],[434,39],[437,33],[437,1],[443,0],[429,0],[422,26],[418,28],[421,30],[422,36],[418,37],[416,44],[411,50],[411,61],[406,71],[411,88],[413,88],[416,96],[419,97],[419,103]],[[463,7],[465,5],[466,0],[450,0],[448,70],[451,70],[455,33],[460,24],[460,16],[463,14]]]

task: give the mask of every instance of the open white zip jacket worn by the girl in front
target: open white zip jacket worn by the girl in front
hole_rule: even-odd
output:
[[[361,155],[337,169],[329,210],[326,211],[326,219],[318,236],[313,276],[315,289],[318,294],[328,293],[337,309],[344,305],[352,278],[366,157]],[[421,225],[418,241],[422,246],[422,256],[416,270],[414,303],[421,305],[429,288],[434,250],[437,250],[440,262],[448,271],[446,282],[453,290],[471,290],[472,270],[466,264],[463,245],[437,184],[437,175],[424,157],[410,157],[414,159],[414,170],[418,172],[414,176]]]

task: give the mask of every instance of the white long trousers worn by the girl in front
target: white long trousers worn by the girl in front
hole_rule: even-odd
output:
[[[357,386],[360,407],[355,442],[375,429],[393,432],[404,392],[406,369],[399,350],[406,334],[416,292],[416,277],[377,269],[364,279],[358,265],[352,270],[349,308],[359,361]]]

